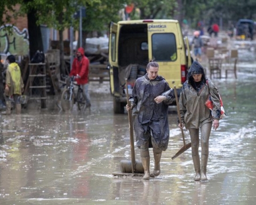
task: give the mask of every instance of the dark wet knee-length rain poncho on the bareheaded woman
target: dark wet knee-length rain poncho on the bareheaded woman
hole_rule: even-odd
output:
[[[149,80],[148,74],[136,80],[130,98],[134,105],[132,116],[136,146],[140,147],[149,140],[148,132],[153,135],[151,140],[159,149],[167,149],[170,138],[168,107],[174,99],[173,90],[164,93],[168,90],[169,84],[159,75],[154,80]],[[157,104],[154,99],[161,95],[166,96],[166,100]]]

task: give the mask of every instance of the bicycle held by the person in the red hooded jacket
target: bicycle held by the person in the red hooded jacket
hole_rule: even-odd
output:
[[[81,85],[74,83],[74,79],[75,76],[71,76],[69,79],[70,84],[67,83],[67,88],[62,91],[60,104],[63,111],[71,110],[75,103],[77,103],[78,110],[84,110],[86,107],[86,98],[83,89]],[[78,86],[76,94],[74,86]]]

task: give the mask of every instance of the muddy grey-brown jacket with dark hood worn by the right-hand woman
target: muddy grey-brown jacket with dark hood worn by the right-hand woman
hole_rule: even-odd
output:
[[[202,73],[201,84],[194,82],[193,74]],[[207,81],[207,83],[206,83]],[[213,101],[213,110],[205,106],[205,101],[209,97]],[[220,98],[217,87],[213,82],[205,77],[203,66],[194,61],[190,66],[187,81],[183,84],[179,98],[181,121],[185,123],[186,129],[198,129],[205,123],[212,122],[213,119],[220,119]]]

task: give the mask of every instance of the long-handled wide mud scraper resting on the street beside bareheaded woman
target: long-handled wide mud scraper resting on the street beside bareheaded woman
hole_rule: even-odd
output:
[[[127,105],[131,107],[129,101],[129,93],[127,87],[127,79],[125,79],[126,84],[126,100]],[[131,144],[131,161],[129,160],[121,160],[120,168],[121,173],[113,173],[114,176],[143,176],[144,168],[142,166],[141,161],[135,160],[135,151],[134,151],[134,138],[133,138],[133,123],[132,123],[132,110],[128,110],[128,119],[129,119],[129,129],[130,129],[130,144]]]

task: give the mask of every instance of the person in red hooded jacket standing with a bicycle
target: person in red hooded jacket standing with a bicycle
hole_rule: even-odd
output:
[[[73,61],[72,69],[69,76],[76,76],[77,84],[80,84],[83,88],[86,107],[91,107],[91,99],[89,95],[89,59],[84,55],[84,49],[82,47],[77,49],[76,58]]]

